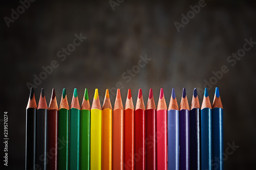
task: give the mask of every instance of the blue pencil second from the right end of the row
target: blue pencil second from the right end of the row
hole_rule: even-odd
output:
[[[212,169],[211,116],[211,104],[208,90],[205,88],[204,99],[201,106],[201,169],[208,170]]]

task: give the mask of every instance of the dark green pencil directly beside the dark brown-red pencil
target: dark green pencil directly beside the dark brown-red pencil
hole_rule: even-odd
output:
[[[69,169],[69,103],[63,88],[58,113],[58,169]]]

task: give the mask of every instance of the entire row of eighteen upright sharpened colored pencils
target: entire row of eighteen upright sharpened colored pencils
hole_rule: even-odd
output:
[[[88,91],[80,107],[77,89],[69,108],[63,89],[58,108],[55,91],[49,108],[44,89],[36,106],[33,88],[26,114],[26,169],[223,169],[223,107],[216,88],[211,106],[207,88],[200,110],[197,89],[189,109],[185,88],[180,107],[173,89],[169,107],[160,90],[156,107],[150,89],[146,108],[139,89],[134,108],[128,90],[123,108],[120,89],[114,109],[106,89],[98,89],[92,107]]]

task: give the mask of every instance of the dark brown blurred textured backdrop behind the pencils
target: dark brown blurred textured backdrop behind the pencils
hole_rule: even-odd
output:
[[[113,91],[113,105],[117,86],[122,88],[123,104],[128,88],[132,89],[134,104],[138,88],[142,88],[144,103],[149,88],[153,88],[156,103],[160,88],[164,88],[168,104],[171,89],[175,88],[179,103],[185,87],[190,104],[194,87],[199,90],[205,85],[209,87],[212,102],[218,86],[224,106],[224,151],[227,143],[240,146],[228,155],[224,167],[253,167],[256,160],[253,108],[256,45],[245,54],[240,49],[245,39],[256,41],[254,1],[205,1],[197,14],[188,13],[189,21],[182,20],[182,14],[186,16],[191,11],[190,5],[194,7],[202,1],[118,2],[121,3],[111,1],[111,6],[108,0],[35,1],[24,11],[18,8],[21,6],[18,0],[2,2],[0,126],[3,130],[3,112],[8,111],[7,169],[25,167],[25,109],[28,83],[35,85],[34,75],[45,79],[37,80],[36,101],[40,88],[45,88],[48,104],[52,88],[56,89],[58,103],[62,88],[67,89],[69,103],[74,88],[78,89],[80,103],[84,88],[89,89],[90,103],[95,88],[99,89],[102,99],[105,89],[109,88]],[[19,10],[18,18],[13,14],[16,19],[10,20],[11,9]],[[179,31],[175,26],[177,22],[184,23]],[[70,45],[75,34],[87,38],[78,46]],[[67,47],[72,52],[65,54],[62,48]],[[238,57],[239,60],[228,57],[239,50],[240,55],[244,55]],[[141,62],[141,67],[136,66],[141,57],[148,58],[147,64]],[[42,73],[42,67],[52,62],[56,68],[49,69],[50,74]],[[225,72],[222,76],[219,72],[219,79],[214,78],[212,71],[218,72],[222,66]],[[202,103],[201,96],[199,99]],[[3,131],[0,134],[2,141]],[[1,162],[2,166],[3,160]]]

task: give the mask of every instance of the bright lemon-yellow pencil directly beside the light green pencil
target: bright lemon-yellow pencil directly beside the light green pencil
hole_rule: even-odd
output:
[[[95,89],[91,108],[91,169],[101,169],[101,107],[98,89]]]

